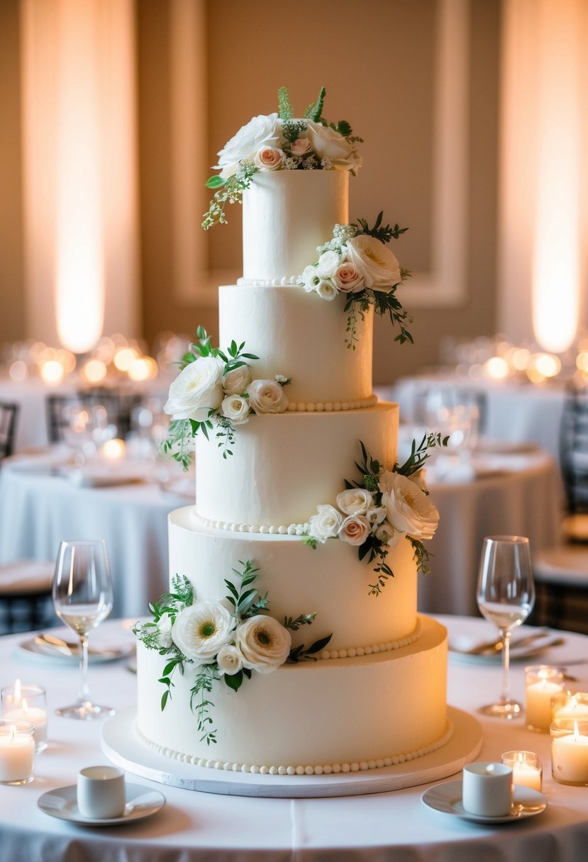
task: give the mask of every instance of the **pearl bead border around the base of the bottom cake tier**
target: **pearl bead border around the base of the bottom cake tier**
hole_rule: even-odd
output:
[[[176,752],[172,748],[159,746],[157,743],[148,740],[146,736],[141,734],[141,731],[136,726],[136,722],[134,732],[137,734],[141,742],[149,748],[152,748],[153,751],[164,754],[166,757],[174,760],[180,760],[182,763],[191,763],[195,766],[203,766],[207,769],[216,769],[226,772],[248,772],[252,775],[339,775],[340,773],[347,772],[364,772],[372,769],[383,769],[387,766],[397,766],[398,764],[410,762],[410,760],[417,760],[425,757],[427,754],[431,754],[442,746],[447,745],[447,742],[451,739],[452,734],[454,733],[454,725],[452,721],[447,720],[445,733],[440,737],[440,739],[435,740],[435,742],[432,742],[428,746],[422,746],[422,748],[416,748],[410,752],[391,754],[388,757],[378,758],[377,760],[360,760],[359,762],[353,761],[353,763],[334,763],[325,765],[291,764],[259,766],[255,764],[230,763],[229,761],[207,759],[197,757],[192,754]]]

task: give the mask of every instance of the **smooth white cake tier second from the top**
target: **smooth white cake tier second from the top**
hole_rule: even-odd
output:
[[[328,173],[328,172],[327,172]],[[346,297],[326,302],[302,287],[231,284],[219,290],[220,343],[245,341],[256,378],[291,378],[293,403],[351,403],[372,397],[373,309],[357,322],[355,349],[347,348]]]

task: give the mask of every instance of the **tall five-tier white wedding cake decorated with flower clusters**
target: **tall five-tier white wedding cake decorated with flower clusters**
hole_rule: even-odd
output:
[[[280,91],[219,153],[204,227],[242,197],[243,278],[220,288],[170,390],[166,447],[196,438],[196,504],[169,516],[170,591],[138,635],[141,740],[199,766],[373,769],[447,742],[447,634],[416,611],[437,513],[432,436],[397,464],[372,392],[374,313],[398,340],[403,272],[381,214],[349,224],[347,122]],[[436,442],[439,442],[438,440]]]

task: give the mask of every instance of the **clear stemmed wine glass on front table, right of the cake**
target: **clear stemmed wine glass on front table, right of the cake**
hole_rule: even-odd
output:
[[[527,619],[535,602],[529,539],[524,536],[486,536],[478,576],[478,607],[494,622],[502,640],[503,687],[496,703],[479,711],[499,718],[516,718],[522,706],[510,697],[510,634]]]

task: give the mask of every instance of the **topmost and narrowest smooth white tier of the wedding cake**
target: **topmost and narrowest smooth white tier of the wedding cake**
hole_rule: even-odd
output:
[[[243,192],[243,277],[290,279],[348,218],[347,171],[260,171]]]

